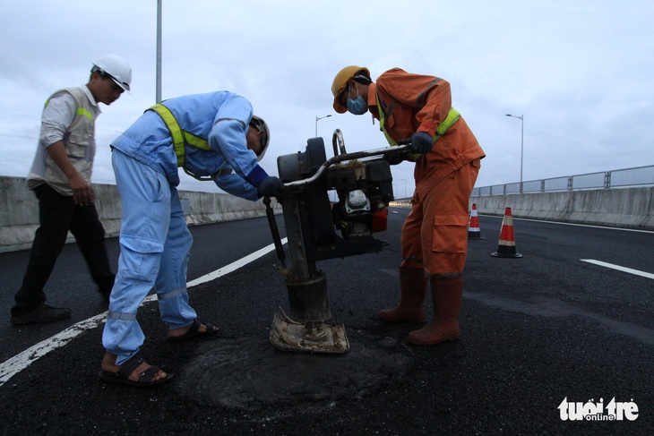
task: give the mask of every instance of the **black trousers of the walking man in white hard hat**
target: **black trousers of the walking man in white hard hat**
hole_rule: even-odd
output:
[[[39,199],[40,227],[34,235],[30,261],[22,278],[22,286],[16,293],[12,313],[30,312],[46,301],[43,287],[55,268],[56,258],[64,248],[69,230],[82,251],[99,291],[111,292],[115,275],[109,266],[105,229],[95,206],[92,203],[88,206],[76,205],[73,197],[61,195],[47,184],[35,188],[34,193]]]

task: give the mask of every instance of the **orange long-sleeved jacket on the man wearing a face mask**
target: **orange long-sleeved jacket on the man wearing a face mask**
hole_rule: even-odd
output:
[[[368,106],[377,119],[379,95],[385,118],[385,130],[395,141],[413,133],[434,136],[452,107],[450,83],[435,76],[407,73],[400,68],[383,73],[368,89]],[[435,143],[434,149],[418,158],[414,177],[416,194],[423,198],[435,184],[469,162],[484,158],[477,138],[461,116]]]

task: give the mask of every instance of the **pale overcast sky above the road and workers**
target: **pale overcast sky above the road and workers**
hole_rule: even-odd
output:
[[[452,104],[486,151],[477,186],[654,164],[654,2],[162,0],[162,97],[230,90],[271,128],[262,166],[304,150],[317,122],[331,156],[387,145],[370,115],[336,114],[346,65],[452,84]],[[108,144],[156,98],[157,0],[0,0],[0,175],[25,176],[43,103],[89,79],[104,54],[133,67],[132,95],[100,105],[93,182],[113,184]],[[397,197],[413,166],[392,167]],[[181,176],[181,189],[216,192]],[[405,182],[406,181],[406,182]]]

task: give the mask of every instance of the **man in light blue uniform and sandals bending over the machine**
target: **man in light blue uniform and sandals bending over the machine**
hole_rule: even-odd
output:
[[[165,100],[111,143],[123,212],[101,380],[151,386],[172,377],[138,355],[145,337],[136,312],[153,288],[168,340],[218,331],[189,305],[186,266],[193,239],[176,188],[177,168],[244,199],[279,197],[284,184],[258,164],[269,143],[268,125],[250,102],[228,91]]]

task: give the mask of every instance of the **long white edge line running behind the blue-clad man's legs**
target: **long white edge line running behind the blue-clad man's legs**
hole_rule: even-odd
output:
[[[281,244],[286,244],[287,238],[281,240]],[[266,247],[263,247],[261,250],[248,254],[238,261],[234,261],[229,265],[212,271],[211,273],[202,276],[201,278],[195,278],[186,284],[186,287],[193,287],[202,285],[202,283],[215,280],[220,276],[229,274],[230,272],[236,271],[237,269],[244,267],[248,263],[255,261],[262,257],[264,254],[267,254],[275,249],[274,244],[270,244]],[[148,303],[157,299],[157,295],[148,295],[145,298],[143,303]],[[4,363],[0,363],[0,386],[4,385],[7,380],[11,379],[14,375],[19,372],[22,372],[25,368],[30,366],[30,364],[39,360],[40,357],[47,355],[51,351],[56,350],[62,346],[65,346],[68,342],[72,341],[74,338],[80,336],[84,331],[95,329],[105,322],[107,318],[107,312],[100,313],[94,317],[89,318],[85,321],[80,321],[76,324],[73,324],[68,329],[57,333],[52,338],[47,338],[39,342],[35,346],[30,346],[27,350],[23,351],[18,355],[14,355],[12,358],[6,360]]]

